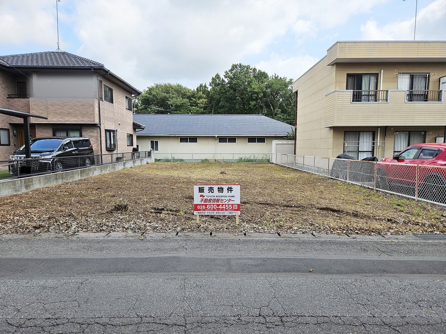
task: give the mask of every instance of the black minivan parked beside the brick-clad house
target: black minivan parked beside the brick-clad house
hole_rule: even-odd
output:
[[[10,174],[61,172],[95,163],[93,145],[87,137],[34,138],[30,147],[30,160],[25,159],[25,145],[9,156],[10,160],[19,160],[9,165]]]

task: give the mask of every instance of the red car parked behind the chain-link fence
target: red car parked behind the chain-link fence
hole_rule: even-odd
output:
[[[377,165],[377,188],[403,188],[420,198],[446,202],[446,143],[410,145]]]

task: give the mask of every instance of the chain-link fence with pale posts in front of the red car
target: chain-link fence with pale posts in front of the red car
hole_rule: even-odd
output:
[[[446,166],[276,154],[282,166],[446,205]]]

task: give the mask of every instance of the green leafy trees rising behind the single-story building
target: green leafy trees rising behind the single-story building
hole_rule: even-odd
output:
[[[217,73],[207,84],[190,89],[180,84],[147,87],[133,102],[139,114],[262,114],[294,124],[292,79],[258,70],[250,65],[233,64]]]

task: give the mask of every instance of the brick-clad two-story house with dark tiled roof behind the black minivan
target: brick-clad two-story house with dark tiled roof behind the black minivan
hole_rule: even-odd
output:
[[[95,154],[136,147],[132,96],[103,64],[68,52],[0,56],[0,107],[36,114],[34,137],[89,137]],[[25,142],[23,120],[0,113],[0,160]]]

